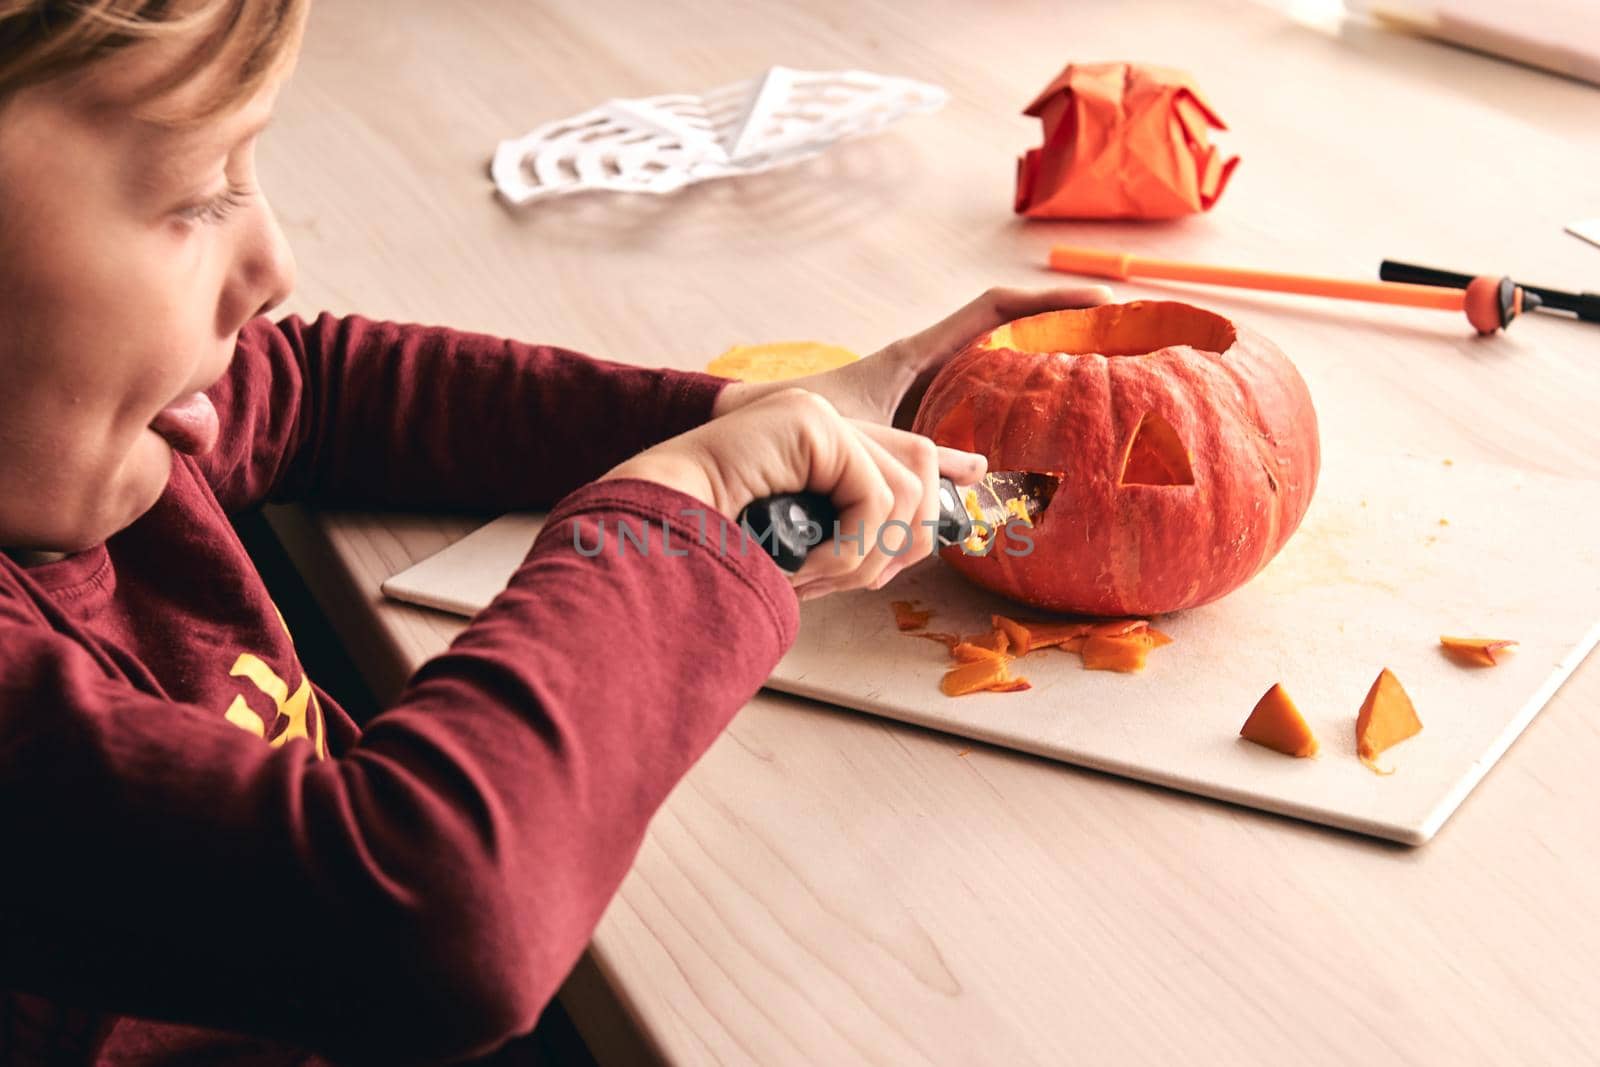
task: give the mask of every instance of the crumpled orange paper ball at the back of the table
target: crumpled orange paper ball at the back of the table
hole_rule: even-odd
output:
[[[1171,219],[1206,211],[1238,157],[1227,130],[1182,70],[1075,62],[1027,106],[1045,144],[1016,165],[1016,211],[1051,219]]]

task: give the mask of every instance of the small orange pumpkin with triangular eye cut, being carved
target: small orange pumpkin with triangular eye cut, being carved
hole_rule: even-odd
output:
[[[986,589],[1077,614],[1162,614],[1237,589],[1299,526],[1320,464],[1293,363],[1178,302],[1000,326],[934,378],[915,429],[990,470],[1059,478],[1032,528],[944,557]]]

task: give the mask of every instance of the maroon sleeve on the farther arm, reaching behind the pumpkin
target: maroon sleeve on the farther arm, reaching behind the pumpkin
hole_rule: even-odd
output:
[[[202,469],[229,512],[549,507],[710,418],[725,379],[440,326],[250,322],[210,395]]]

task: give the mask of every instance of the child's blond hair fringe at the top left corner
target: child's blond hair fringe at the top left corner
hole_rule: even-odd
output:
[[[141,42],[194,37],[149,99],[226,61],[219,93],[179,122],[248,99],[291,50],[309,0],[0,0],[0,104],[18,90],[86,69]]]

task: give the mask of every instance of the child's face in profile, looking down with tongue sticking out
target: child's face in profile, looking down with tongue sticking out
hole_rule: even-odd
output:
[[[293,286],[254,168],[282,77],[203,123],[152,122],[226,77],[134,106],[181,53],[134,45],[0,107],[3,547],[85,549],[149,510],[173,450],[216,442],[194,394]]]

